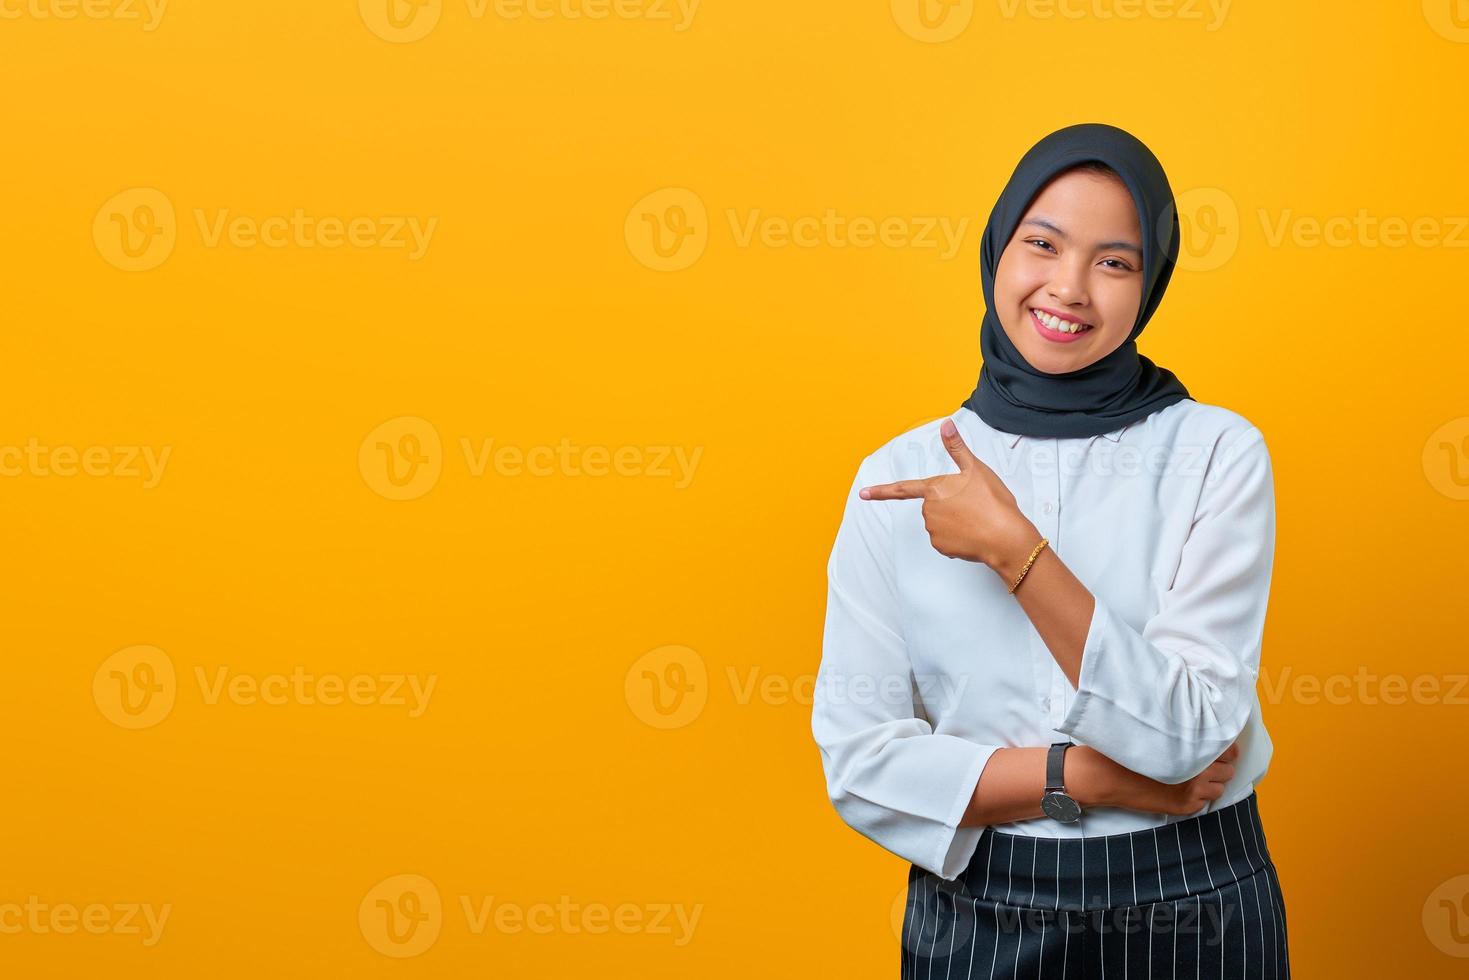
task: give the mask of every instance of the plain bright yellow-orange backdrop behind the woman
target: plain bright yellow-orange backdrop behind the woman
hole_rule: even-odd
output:
[[[170,912],[153,945],[0,933],[4,976],[896,976],[906,865],[839,821],[809,738],[826,558],[862,455],[974,385],[1019,154],[1089,120],[1158,153],[1191,235],[1143,353],[1275,461],[1265,677],[1445,695],[1262,692],[1296,974],[1463,970],[1438,899],[1469,890],[1465,4],[398,0],[398,29],[173,0],[147,29],[97,1],[0,0],[0,445],[170,455],[151,486],[120,457],[0,478],[0,904]],[[135,188],[173,223],[109,204]],[[436,228],[410,259],[197,217],[297,209]],[[953,256],[739,235],[829,209],[968,225]],[[1459,244],[1299,223],[1363,209]],[[172,234],[151,269],[119,267],[113,215]],[[649,215],[693,251],[660,256]],[[427,432],[427,489],[392,500],[375,454]],[[464,439],[629,463],[476,475]],[[123,676],[175,679],[126,727],[104,661],[137,646]],[[670,666],[671,720],[642,683]],[[436,686],[419,717],[210,702],[219,669]],[[397,876],[441,902],[407,958],[369,934]],[[466,898],[698,920],[476,933]]]

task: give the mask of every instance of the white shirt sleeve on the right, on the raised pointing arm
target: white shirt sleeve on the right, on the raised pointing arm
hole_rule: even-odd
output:
[[[1210,460],[1177,574],[1143,630],[1094,594],[1058,730],[1163,783],[1208,768],[1255,708],[1274,557],[1271,457],[1252,426]]]

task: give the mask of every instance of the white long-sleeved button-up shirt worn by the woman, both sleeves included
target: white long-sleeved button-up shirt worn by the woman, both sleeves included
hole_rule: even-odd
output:
[[[1260,430],[1193,400],[1084,438],[1000,432],[968,408],[950,417],[1096,598],[1080,685],[1008,583],[934,551],[921,500],[858,497],[958,473],[940,419],[889,441],[858,467],[827,564],[811,730],[842,818],[952,880],[978,843],[981,827],[959,820],[990,755],[1068,739],[1165,783],[1238,739],[1234,779],[1199,813],[1246,798],[1272,752],[1255,683],[1275,552]],[[1078,824],[997,829],[1090,837],[1177,820],[1090,807]]]

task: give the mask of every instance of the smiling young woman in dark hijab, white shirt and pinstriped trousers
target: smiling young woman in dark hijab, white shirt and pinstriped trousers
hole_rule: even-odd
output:
[[[1137,351],[1178,247],[1137,138],[1042,140],[984,229],[974,394],[848,494],[811,724],[837,813],[911,862],[905,979],[1290,976],[1271,457]]]

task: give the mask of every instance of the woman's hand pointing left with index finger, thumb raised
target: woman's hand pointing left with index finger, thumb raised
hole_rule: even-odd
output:
[[[1021,513],[1005,482],[970,451],[952,419],[945,419],[939,432],[958,473],[867,486],[859,497],[923,498],[928,539],[934,551],[949,558],[981,561],[996,570],[1002,561],[1012,563],[1017,552],[1022,560],[1040,541],[1040,532]]]

